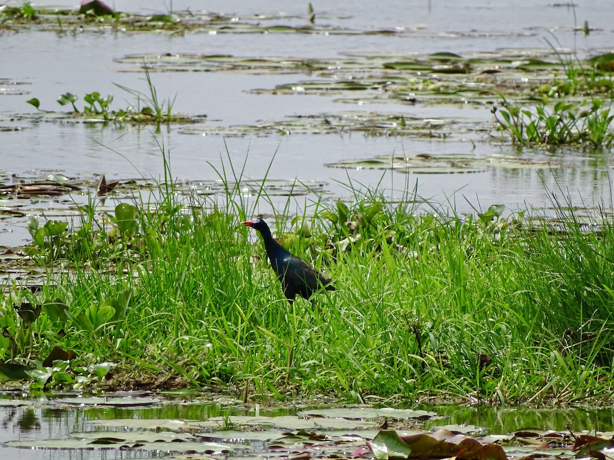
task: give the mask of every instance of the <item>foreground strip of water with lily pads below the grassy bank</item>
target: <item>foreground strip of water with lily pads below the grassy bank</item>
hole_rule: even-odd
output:
[[[300,452],[301,458],[400,459],[411,449],[424,459],[447,452],[459,460],[481,458],[478,454],[499,460],[532,454],[571,460],[578,453],[599,458],[612,444],[612,408],[475,406],[340,407],[317,399],[244,405],[190,391],[48,398],[15,392],[0,399],[0,411],[10,414],[2,438],[7,454],[21,448],[84,457],[164,452],[263,460]],[[58,411],[69,423],[58,424]],[[583,429],[594,425],[599,429]],[[527,429],[534,426],[545,428]],[[15,434],[30,427],[39,431],[36,437]]]

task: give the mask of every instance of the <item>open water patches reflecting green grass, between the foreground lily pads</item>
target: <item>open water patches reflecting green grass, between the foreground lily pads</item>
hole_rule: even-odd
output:
[[[15,404],[8,396],[2,397],[0,402]],[[230,416],[284,416],[297,415],[300,408],[281,408],[268,405],[268,407],[243,406],[243,405],[219,405],[211,401],[163,401],[161,404],[150,407],[76,407],[72,405],[55,405],[53,400],[24,399],[24,405],[19,407],[0,406],[0,443],[9,441],[41,441],[70,440],[80,438],[79,433],[103,432],[100,438],[112,438],[112,432],[121,433],[126,430],[134,430],[126,427],[104,427],[104,424],[94,424],[93,421],[101,420],[197,420],[206,421],[212,417]],[[520,429],[554,430],[580,432],[583,430],[597,430],[608,432],[614,429],[614,408],[527,408],[527,407],[488,407],[488,406],[464,406],[464,405],[427,405],[418,404],[411,407],[413,410],[426,410],[437,413],[437,417],[427,420],[421,429],[435,431],[438,427],[454,424],[475,425],[481,432],[489,434],[508,434]],[[344,413],[351,419],[361,417],[361,408],[344,408]],[[348,415],[355,412],[355,415]],[[298,418],[298,417],[297,417]],[[162,422],[161,422],[162,423]],[[452,427],[451,429],[454,430]],[[145,431],[168,431],[169,429],[149,429]],[[104,435],[104,432],[109,435]],[[142,430],[138,430],[139,432]],[[205,430],[206,431],[206,430]],[[262,428],[259,431],[265,431]],[[322,431],[322,430],[316,430]],[[196,429],[196,432],[203,432]],[[246,437],[249,438],[249,430]],[[326,433],[326,431],[323,431]],[[371,431],[369,431],[371,432]],[[275,437],[280,432],[271,431],[270,436]],[[334,434],[334,432],[330,432]],[[142,435],[141,435],[142,436]],[[239,436],[233,432],[232,437]],[[117,435],[116,435],[117,437]],[[239,436],[240,437],[240,436]],[[266,434],[258,439],[266,439]],[[200,438],[200,442],[208,439]],[[240,441],[240,439],[238,440]],[[161,448],[164,449],[163,446]],[[254,455],[264,454],[265,443],[252,443]],[[103,445],[93,444],[87,448],[59,447],[46,448],[14,448],[0,447],[2,458],[30,460],[30,459],[124,459],[124,458],[152,458],[164,456],[161,451],[150,450],[122,450],[119,448],[104,448]]]

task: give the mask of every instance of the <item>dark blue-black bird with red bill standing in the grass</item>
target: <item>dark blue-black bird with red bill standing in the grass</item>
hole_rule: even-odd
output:
[[[292,305],[297,294],[303,299],[309,299],[317,290],[324,288],[327,291],[336,291],[330,278],[311,267],[306,261],[292,255],[290,251],[279,244],[271,235],[271,230],[265,221],[253,218],[243,222],[262,235],[265,243],[266,255],[271,268],[277,275],[287,301]]]

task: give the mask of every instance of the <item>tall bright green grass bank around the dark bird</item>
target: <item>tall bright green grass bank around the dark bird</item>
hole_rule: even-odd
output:
[[[247,209],[231,185],[241,174],[223,170],[228,191],[213,200],[181,202],[167,182],[135,203],[136,226],[126,207],[106,224],[93,207],[86,231],[39,238],[30,250],[44,255],[44,288],[14,286],[10,301],[54,300],[68,318],[43,307],[31,336],[5,302],[0,326],[18,343],[15,352],[0,337],[2,359],[32,362],[32,350],[42,360],[59,346],[79,366],[119,363],[116,385],[221,386],[258,401],[611,398],[614,229],[605,213],[588,232],[561,204],[558,228],[500,212],[474,220],[417,213],[348,185],[351,203],[278,215],[284,243],[338,288],[290,307],[241,225],[257,205]]]

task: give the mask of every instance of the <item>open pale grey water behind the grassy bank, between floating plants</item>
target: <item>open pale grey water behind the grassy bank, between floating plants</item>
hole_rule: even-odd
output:
[[[52,2],[41,2],[52,3]],[[57,2],[53,2],[56,4]],[[603,52],[611,46],[611,21],[604,11],[612,10],[606,1],[577,2],[552,6],[548,2],[470,1],[391,1],[374,6],[364,0],[349,2],[312,2],[321,21],[348,29],[376,31],[405,28],[403,34],[203,34],[169,36],[156,33],[80,33],[57,35],[51,32],[5,31],[0,35],[0,77],[22,83],[10,86],[12,93],[0,94],[0,115],[30,113],[29,98],[41,100],[41,107],[61,110],[60,94],[70,91],[83,95],[91,91],[114,94],[117,107],[133,101],[114,83],[146,90],[140,72],[123,72],[114,59],[131,53],[219,53],[235,56],[293,56],[332,58],[347,52],[430,53],[472,51],[494,52],[499,48],[546,48],[546,39],[556,37],[562,46],[574,47],[578,55]],[[166,12],[167,2],[117,1],[118,10],[129,12]],[[174,1],[173,9],[206,9],[212,12],[249,15],[282,13],[280,24],[306,23],[306,4],[281,1],[242,2]],[[300,18],[296,18],[300,15]],[[287,18],[287,19],[284,19]],[[317,18],[317,16],[316,16]],[[597,30],[589,36],[573,31],[588,21]],[[554,34],[554,35],[553,35]],[[174,111],[206,113],[208,120],[222,125],[255,124],[258,120],[283,120],[288,115],[310,115],[351,110],[348,104],[323,96],[273,96],[252,94],[254,88],[273,88],[280,83],[297,82],[309,75],[250,75],[240,72],[162,72],[152,75],[161,98],[176,95]],[[375,106],[376,105],[376,106]],[[489,107],[445,107],[416,104],[375,104],[366,110],[400,111],[408,117],[459,117],[492,120]],[[117,128],[82,123],[33,123],[15,121],[22,131],[0,132],[1,168],[18,175],[61,171],[69,175],[106,174],[107,178],[159,178],[163,162],[157,142],[163,142],[171,155],[173,175],[179,180],[216,178],[209,163],[216,167],[220,158],[230,156],[235,165],[247,157],[246,175],[263,178],[274,154],[269,178],[316,180],[326,182],[332,196],[347,192],[339,185],[350,180],[355,185],[380,183],[387,194],[401,196],[405,187],[418,186],[422,197],[455,205],[457,210],[503,203],[512,210],[549,204],[546,191],[569,194],[574,203],[590,205],[604,201],[611,205],[610,151],[599,154],[577,149],[546,151],[518,150],[508,144],[468,142],[459,136],[446,141],[403,139],[402,137],[364,137],[335,135],[271,135],[224,139],[223,136],[189,136],[171,126],[155,134],[151,127]],[[101,147],[103,144],[109,148]],[[112,150],[119,152],[114,153]],[[520,155],[530,158],[565,159],[570,167],[559,171],[491,170],[477,174],[414,174],[400,172],[346,171],[324,166],[331,161],[370,158],[375,155],[427,153],[441,155]],[[122,156],[123,155],[123,156]],[[125,158],[124,158],[125,157]],[[130,159],[131,164],[126,160]],[[226,160],[228,161],[228,160]],[[313,197],[312,197],[313,199]],[[300,197],[298,211],[305,205]],[[11,231],[13,229],[10,229]],[[3,240],[6,237],[6,241]],[[0,244],[26,238],[9,232],[0,234]]]

